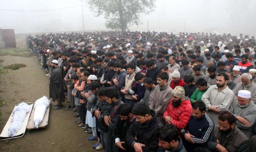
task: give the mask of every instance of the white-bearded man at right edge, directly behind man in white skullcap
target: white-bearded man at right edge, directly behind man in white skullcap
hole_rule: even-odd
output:
[[[251,92],[251,100],[256,104],[256,84],[252,82],[252,76],[250,73],[244,73],[241,75],[241,81],[237,86],[232,90],[234,95],[238,95],[239,90],[248,90]]]

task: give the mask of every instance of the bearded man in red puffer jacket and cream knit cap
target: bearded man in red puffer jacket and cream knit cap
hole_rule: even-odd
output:
[[[174,124],[178,129],[178,135],[182,138],[180,130],[187,126],[192,114],[192,106],[188,97],[185,97],[183,87],[177,86],[172,92],[173,99],[170,100],[163,118],[167,124]]]

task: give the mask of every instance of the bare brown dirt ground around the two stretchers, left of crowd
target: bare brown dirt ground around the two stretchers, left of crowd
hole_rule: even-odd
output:
[[[26,47],[25,35],[16,35],[17,47]],[[2,132],[13,108],[22,102],[35,102],[36,99],[49,96],[49,79],[35,56],[0,56],[4,62],[0,67],[23,63],[27,67],[18,70],[4,69],[0,74],[0,99],[5,103],[1,108]],[[72,111],[53,110],[51,102],[49,123],[46,128],[27,130],[20,138],[0,141],[0,151],[96,151],[92,145],[97,141],[88,141],[87,134],[75,124]],[[64,106],[69,103],[67,101]],[[1,105],[0,105],[1,106]],[[101,150],[103,151],[103,150]]]

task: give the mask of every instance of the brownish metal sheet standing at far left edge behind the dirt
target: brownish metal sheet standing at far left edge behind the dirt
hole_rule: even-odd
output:
[[[2,35],[5,47],[16,48],[14,29],[2,29]]]

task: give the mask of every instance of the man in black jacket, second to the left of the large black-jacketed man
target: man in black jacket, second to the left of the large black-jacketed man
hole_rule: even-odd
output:
[[[116,152],[118,147],[115,144],[114,137],[118,133],[120,125],[120,116],[117,114],[118,107],[122,104],[119,97],[119,91],[114,87],[106,88],[104,91],[106,101],[111,105],[110,115],[104,116],[105,124],[108,125],[108,142],[111,144],[106,145],[105,152]],[[106,141],[105,141],[106,142]]]

